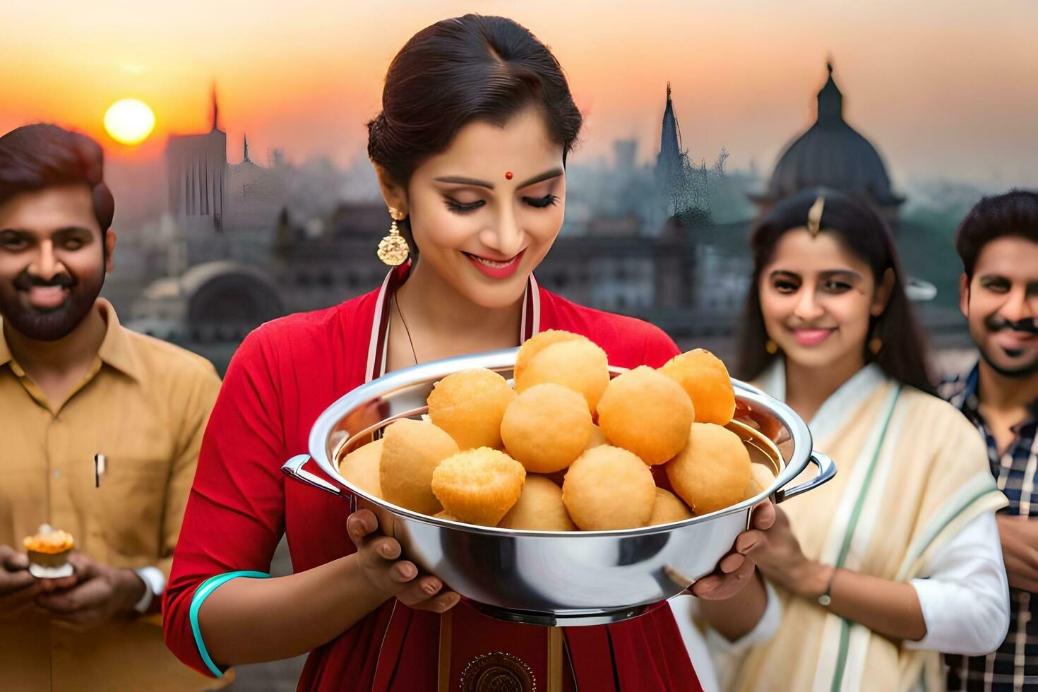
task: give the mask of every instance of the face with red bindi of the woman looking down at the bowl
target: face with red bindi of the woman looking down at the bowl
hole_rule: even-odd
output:
[[[531,107],[502,127],[463,127],[414,170],[406,196],[386,188],[389,206],[410,216],[419,264],[476,305],[504,307],[562,228],[563,146]]]

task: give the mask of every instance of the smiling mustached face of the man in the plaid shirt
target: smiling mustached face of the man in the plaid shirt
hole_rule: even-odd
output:
[[[960,289],[984,360],[1011,377],[1038,371],[1038,243],[1016,237],[987,243]]]

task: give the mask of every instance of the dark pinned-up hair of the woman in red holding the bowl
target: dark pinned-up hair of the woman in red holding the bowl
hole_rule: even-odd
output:
[[[442,20],[414,34],[389,64],[382,112],[367,123],[367,156],[407,186],[468,122],[503,124],[528,106],[543,113],[565,164],[582,118],[548,47],[503,17]],[[414,252],[409,220],[401,232]]]

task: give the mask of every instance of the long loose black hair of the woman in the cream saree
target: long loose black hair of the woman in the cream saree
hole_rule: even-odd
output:
[[[872,317],[869,326],[871,333],[882,339],[883,345],[875,356],[864,345],[866,362],[875,361],[895,380],[932,393],[923,336],[905,296],[905,274],[890,229],[868,202],[825,188],[813,188],[787,197],[754,227],[749,241],[754,274],[739,337],[738,377],[753,380],[776,358],[765,349],[768,334],[761,311],[761,272],[771,261],[778,240],[787,231],[807,225],[808,212],[818,197],[825,198],[820,224],[823,232],[836,234],[847,250],[866,261],[877,285],[886,270],[894,271],[894,292],[890,301],[882,314]]]

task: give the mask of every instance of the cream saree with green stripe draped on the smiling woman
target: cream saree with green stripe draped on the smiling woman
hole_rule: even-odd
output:
[[[782,362],[754,384],[784,399]],[[891,380],[875,364],[844,383],[810,427],[815,448],[832,456],[839,472],[782,505],[809,558],[899,582],[927,577],[935,549],[1006,503],[968,421],[939,398]],[[945,689],[938,653],[900,645],[777,590],[778,632],[746,654],[732,689]]]

